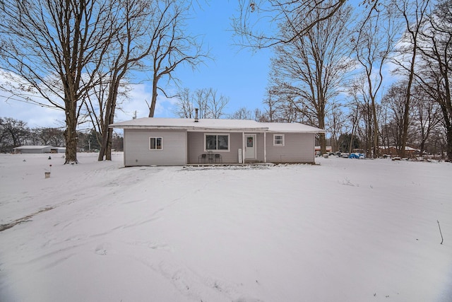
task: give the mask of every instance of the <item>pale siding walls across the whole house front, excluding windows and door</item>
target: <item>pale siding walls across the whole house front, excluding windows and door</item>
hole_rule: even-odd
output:
[[[177,130],[124,129],[124,165],[185,165],[198,163],[198,156],[206,153],[204,134],[218,132],[186,132]],[[239,163],[239,149],[243,148],[242,132],[230,132],[230,150],[214,151],[222,156],[222,163]],[[265,161],[264,134],[256,134],[256,161]],[[315,134],[284,134],[284,146],[273,146],[273,133],[266,134],[268,163],[314,163]],[[162,150],[149,149],[149,137],[162,137]]]

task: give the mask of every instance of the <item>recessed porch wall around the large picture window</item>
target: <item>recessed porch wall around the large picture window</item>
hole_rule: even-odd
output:
[[[213,153],[220,154],[222,163],[239,163],[239,149],[242,149],[242,132],[188,132],[189,141],[188,163],[198,163],[198,156],[207,153],[204,149],[204,134],[230,134],[229,151],[218,150]]]

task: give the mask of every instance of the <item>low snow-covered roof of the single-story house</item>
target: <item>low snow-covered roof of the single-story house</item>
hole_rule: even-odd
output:
[[[299,123],[256,122],[254,120],[226,119],[173,119],[143,117],[140,119],[117,122],[110,128],[122,129],[185,129],[187,131],[237,131],[237,132],[294,132],[323,133],[325,130]]]

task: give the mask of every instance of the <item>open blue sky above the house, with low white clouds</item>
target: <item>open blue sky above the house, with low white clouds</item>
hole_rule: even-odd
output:
[[[233,45],[230,18],[237,10],[237,1],[215,0],[210,1],[209,5],[201,2],[202,8],[196,8],[193,18],[188,21],[189,30],[192,35],[201,35],[213,60],[207,60],[196,71],[192,71],[191,67],[176,69],[175,76],[180,85],[191,91],[198,88],[216,89],[218,96],[229,98],[226,114],[241,107],[250,110],[263,108],[271,51],[260,50],[253,53]],[[166,79],[161,83],[165,83],[163,81]],[[174,92],[171,87],[167,90],[169,93]],[[129,100],[121,105],[122,111],[117,112],[116,121],[130,120],[135,112],[137,117],[147,117],[145,100],[150,101],[150,95],[150,83],[135,86]],[[159,95],[155,117],[174,117],[175,101]],[[0,117],[23,120],[31,128],[64,126],[64,113],[59,110],[15,100],[6,102],[5,98],[0,98]]]

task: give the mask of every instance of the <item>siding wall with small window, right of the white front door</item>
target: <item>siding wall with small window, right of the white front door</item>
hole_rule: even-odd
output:
[[[273,146],[273,134],[266,137],[268,163],[314,163],[315,134],[278,133],[284,134],[284,146]]]

